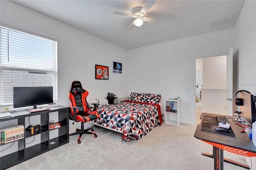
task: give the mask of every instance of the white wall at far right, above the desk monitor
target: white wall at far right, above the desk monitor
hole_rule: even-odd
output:
[[[234,89],[256,95],[256,1],[244,2],[234,30]],[[245,158],[256,169],[256,157]]]

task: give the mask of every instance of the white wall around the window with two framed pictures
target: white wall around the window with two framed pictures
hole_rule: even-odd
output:
[[[127,96],[127,50],[100,38],[72,28],[52,18],[24,8],[10,1],[1,1],[1,25],[28,30],[58,41],[58,104],[69,106],[68,92],[72,81],[81,81],[89,92],[88,100],[114,93]],[[122,75],[109,73],[109,80],[95,80],[95,64],[106,65],[112,60],[122,62]],[[70,131],[80,127],[70,125]]]

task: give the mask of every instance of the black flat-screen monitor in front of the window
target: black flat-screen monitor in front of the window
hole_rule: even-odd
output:
[[[53,87],[14,87],[13,107],[26,107],[53,103]]]

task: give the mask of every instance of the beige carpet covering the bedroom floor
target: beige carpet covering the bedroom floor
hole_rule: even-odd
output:
[[[200,111],[196,124],[200,123]],[[120,142],[121,133],[98,126],[98,137],[84,134],[81,144],[70,143],[9,168],[10,170],[213,170],[214,160],[202,156],[212,146],[194,137],[196,125],[155,127],[148,135]],[[224,152],[224,157],[246,164],[243,156]],[[225,170],[245,170],[224,163]]]

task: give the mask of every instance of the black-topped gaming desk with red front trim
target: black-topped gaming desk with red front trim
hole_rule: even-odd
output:
[[[225,116],[225,115],[215,115],[210,113],[202,113],[200,119],[202,119],[204,115],[210,115],[212,117]],[[226,117],[233,118],[230,116],[226,116]],[[196,131],[194,133],[194,137],[208,144],[211,144],[213,146],[213,154],[206,154],[206,153],[202,153],[202,154],[204,156],[209,156],[214,158],[214,170],[223,170],[224,162],[228,162],[228,163],[235,164],[235,165],[249,169],[247,165],[240,164],[238,162],[234,162],[232,160],[228,160],[223,157],[223,150],[226,150],[227,152],[231,152],[234,154],[239,154],[242,156],[249,156],[249,157],[256,156],[256,146],[254,146],[252,140],[245,133],[239,132],[244,128],[236,125],[235,124],[236,122],[235,121],[232,122],[232,119],[228,119],[228,121],[230,123],[232,130],[236,134],[236,138],[230,138],[230,137],[221,136],[218,134],[202,132],[200,130],[200,125],[197,125]]]

